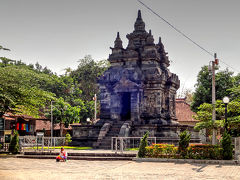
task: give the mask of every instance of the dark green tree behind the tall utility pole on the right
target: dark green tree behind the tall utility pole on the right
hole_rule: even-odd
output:
[[[228,69],[216,73],[216,99],[222,99],[228,96],[227,89],[233,88],[236,81],[233,77],[233,72]],[[193,94],[193,102],[191,109],[197,112],[198,107],[203,103],[212,102],[212,77],[208,72],[208,67],[203,66],[197,76],[196,90]]]

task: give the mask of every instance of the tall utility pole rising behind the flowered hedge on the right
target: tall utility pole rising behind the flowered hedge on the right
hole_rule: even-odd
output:
[[[212,61],[212,121],[213,124],[215,124],[216,121],[216,90],[215,90],[215,65],[218,65],[218,59],[217,54],[214,53],[214,61]],[[213,128],[213,134],[212,134],[212,144],[216,144],[216,129]]]

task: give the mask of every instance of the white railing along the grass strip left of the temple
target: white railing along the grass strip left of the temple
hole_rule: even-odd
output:
[[[20,151],[52,151],[65,145],[65,137],[19,136]]]

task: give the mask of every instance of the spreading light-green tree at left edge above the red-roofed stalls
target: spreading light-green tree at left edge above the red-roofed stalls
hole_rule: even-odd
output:
[[[26,68],[0,68],[0,115],[12,111],[38,117],[39,109],[54,99],[53,93],[40,87],[48,81],[47,76]]]

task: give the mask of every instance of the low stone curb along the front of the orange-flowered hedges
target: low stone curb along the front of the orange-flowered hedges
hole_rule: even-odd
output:
[[[208,159],[167,159],[167,158],[136,158],[136,162],[174,162],[174,163],[195,163],[195,164],[220,164],[220,165],[240,165],[238,160],[208,160]]]

